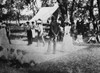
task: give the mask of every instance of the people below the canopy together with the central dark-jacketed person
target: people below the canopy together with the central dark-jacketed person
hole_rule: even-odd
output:
[[[61,35],[61,23],[57,23],[57,20],[55,16],[52,16],[48,20],[49,25],[49,32],[47,34],[48,38],[48,49],[47,52],[50,52],[51,42],[53,42],[53,53],[56,52],[56,44],[58,41],[59,36]],[[32,25],[30,25],[32,24]],[[44,28],[43,28],[43,22],[41,19],[38,19],[36,22],[27,22],[27,39],[28,39],[28,45],[32,44],[32,30],[35,29],[35,32],[37,32],[37,46],[39,45],[40,38],[42,39],[43,46],[45,45],[45,39],[44,39]]]

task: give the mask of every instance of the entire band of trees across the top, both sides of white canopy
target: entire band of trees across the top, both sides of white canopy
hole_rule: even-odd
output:
[[[29,10],[33,11],[34,16],[42,7],[50,7],[54,5],[54,2],[59,4],[59,13],[64,21],[70,21],[74,23],[75,19],[90,18],[91,20],[100,19],[100,1],[99,0],[0,0],[0,19],[18,19],[20,20],[20,11],[25,9],[25,6]],[[40,2],[40,6],[38,6]],[[95,4],[94,4],[95,3]],[[3,9],[7,12],[4,14]],[[98,10],[98,18],[94,15],[94,8]],[[4,18],[5,15],[7,18]],[[69,16],[69,18],[68,18]]]

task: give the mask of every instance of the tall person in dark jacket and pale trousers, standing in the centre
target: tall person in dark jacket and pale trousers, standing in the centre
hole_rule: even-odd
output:
[[[60,32],[60,28],[57,25],[57,21],[56,21],[55,17],[52,16],[51,23],[50,23],[50,31],[49,31],[50,39],[49,39],[49,42],[48,42],[47,52],[50,51],[51,41],[53,40],[53,54],[55,54],[55,52],[56,52],[56,42],[57,42],[57,37],[58,37],[59,32]]]

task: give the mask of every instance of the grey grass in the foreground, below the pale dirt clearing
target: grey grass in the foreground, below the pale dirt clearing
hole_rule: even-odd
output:
[[[90,45],[75,53],[60,57],[57,60],[47,61],[27,68],[18,68],[20,72],[17,73],[99,73],[100,54],[94,52],[94,50],[87,51],[87,49],[99,47],[100,46]],[[16,68],[13,69],[16,70]]]

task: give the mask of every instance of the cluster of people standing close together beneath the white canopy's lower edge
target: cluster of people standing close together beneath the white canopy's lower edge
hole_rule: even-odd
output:
[[[39,45],[40,38],[42,38],[43,45],[45,45],[42,20],[38,19],[36,22],[31,22],[31,23],[26,22],[26,24],[27,24],[26,31],[27,31],[28,45],[32,44],[32,39],[35,38],[36,33],[37,33],[37,40],[38,40],[37,46]]]

